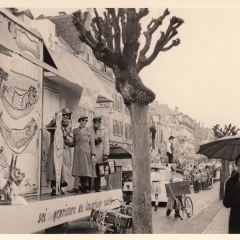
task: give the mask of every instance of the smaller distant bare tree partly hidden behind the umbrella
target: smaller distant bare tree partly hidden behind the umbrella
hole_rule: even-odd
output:
[[[219,124],[216,124],[212,128],[214,132],[214,136],[216,139],[225,137],[225,136],[234,136],[240,130],[239,128],[236,129],[236,126],[232,127],[232,124],[228,126],[225,125],[224,129],[220,128]],[[225,192],[225,184],[229,178],[229,161],[222,161],[222,171],[220,174],[220,189],[219,189],[219,198],[223,200],[224,192]]]

